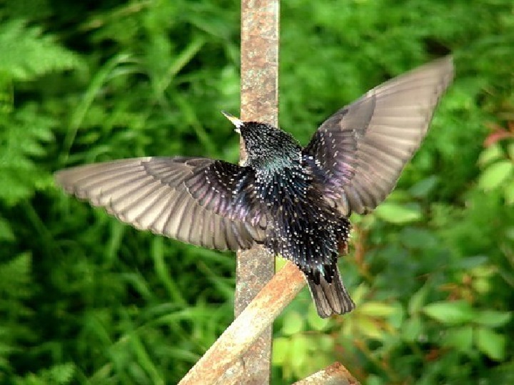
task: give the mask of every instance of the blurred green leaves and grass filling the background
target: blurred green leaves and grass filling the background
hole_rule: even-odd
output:
[[[234,256],[66,197],[69,165],[236,161],[235,0],[5,0],[0,8],[0,384],[173,384],[231,322]],[[283,128],[452,52],[457,78],[398,188],[354,217],[359,307],[307,292],[275,327],[273,384],[340,360],[364,384],[514,384],[510,0],[288,0]]]

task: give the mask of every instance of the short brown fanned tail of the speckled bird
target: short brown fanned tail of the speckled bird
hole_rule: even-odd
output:
[[[311,274],[306,274],[308,287],[321,318],[330,317],[332,314],[351,312],[356,306],[341,281],[337,265],[335,273],[331,283],[328,283],[321,274],[319,284],[316,284]]]

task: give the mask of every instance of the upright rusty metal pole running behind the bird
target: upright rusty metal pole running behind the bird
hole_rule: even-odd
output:
[[[241,0],[241,119],[278,123],[279,0]],[[246,152],[241,143],[241,163]],[[275,261],[262,248],[238,252],[236,317],[264,287]],[[268,327],[241,357],[240,384],[269,384],[271,332]]]

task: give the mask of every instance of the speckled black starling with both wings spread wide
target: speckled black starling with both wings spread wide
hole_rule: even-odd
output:
[[[56,183],[140,230],[217,250],[262,245],[305,274],[320,317],[345,314],[356,307],[338,268],[348,218],[395,188],[453,73],[446,56],[385,81],[304,147],[281,128],[223,112],[243,138],[240,165],[150,156],[59,170]]]

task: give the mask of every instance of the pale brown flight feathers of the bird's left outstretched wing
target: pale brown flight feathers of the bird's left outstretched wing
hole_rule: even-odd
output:
[[[105,207],[140,230],[211,249],[248,249],[264,239],[264,229],[216,214],[199,204],[186,187],[189,178],[203,174],[214,162],[205,158],[115,160],[61,170],[56,181],[66,192]],[[219,206],[218,197],[211,197],[211,202]]]

